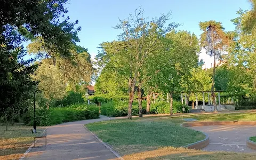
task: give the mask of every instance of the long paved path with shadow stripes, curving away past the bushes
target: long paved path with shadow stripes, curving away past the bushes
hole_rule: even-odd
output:
[[[46,147],[44,139],[39,139],[25,159],[119,159],[83,126],[109,119],[106,116],[100,117],[49,126]]]

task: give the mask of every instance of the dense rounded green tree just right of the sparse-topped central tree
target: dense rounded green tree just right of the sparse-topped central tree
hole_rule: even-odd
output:
[[[170,94],[172,115],[173,94],[182,92],[182,83],[190,75],[190,69],[197,66],[199,46],[194,34],[187,31],[171,31],[166,34],[165,50],[160,52],[159,71],[152,80],[165,95]]]

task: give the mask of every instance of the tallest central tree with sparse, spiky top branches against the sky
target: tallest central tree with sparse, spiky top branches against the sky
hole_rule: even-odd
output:
[[[165,33],[177,27],[176,23],[170,23],[164,27],[165,22],[169,19],[171,13],[162,15],[159,18],[149,21],[143,15],[144,11],[139,7],[135,10],[135,14],[124,20],[115,27],[121,29],[122,34],[119,35],[119,41],[125,42],[126,47],[118,52],[123,61],[127,62],[125,68],[128,67],[127,75],[129,75],[129,109],[128,119],[132,118],[132,103],[135,92],[135,85],[139,82],[142,66],[145,65],[145,59],[149,57],[153,51],[157,50],[161,43],[159,38]],[[121,56],[122,55],[122,56]],[[124,60],[127,58],[127,60]]]

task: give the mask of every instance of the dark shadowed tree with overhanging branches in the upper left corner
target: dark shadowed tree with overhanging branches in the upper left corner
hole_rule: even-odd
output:
[[[37,66],[33,59],[23,60],[26,51],[22,42],[35,36],[42,36],[46,46],[52,50],[69,54],[70,47],[78,41],[77,23],[68,22],[65,17],[66,0],[3,1],[0,6],[0,113],[9,116],[14,108],[30,98],[29,91],[36,83],[31,79]],[[21,14],[22,13],[22,14]],[[24,105],[22,105],[24,106]],[[7,118],[6,118],[7,120]],[[7,129],[7,128],[6,128]]]

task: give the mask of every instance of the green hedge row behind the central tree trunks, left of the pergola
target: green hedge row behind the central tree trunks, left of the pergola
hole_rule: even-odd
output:
[[[146,114],[147,102],[142,101],[142,113]],[[173,101],[173,113],[181,113],[182,107],[185,107],[186,111],[188,106],[182,105],[181,102]],[[128,101],[110,101],[103,103],[101,108],[101,115],[106,116],[127,116],[128,114]],[[132,105],[132,115],[139,114],[138,102],[133,102]],[[150,114],[170,114],[170,103],[165,101],[158,101],[150,105]]]

